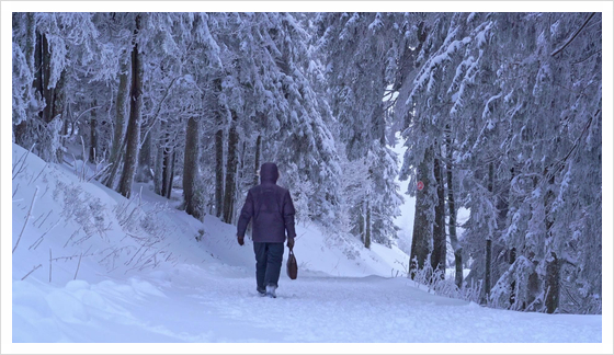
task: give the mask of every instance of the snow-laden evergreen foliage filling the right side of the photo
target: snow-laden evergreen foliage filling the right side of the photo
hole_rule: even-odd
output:
[[[418,70],[396,107],[410,146],[401,175],[450,135],[444,156],[456,182],[447,188],[470,210],[462,243],[474,260],[469,279],[490,272],[487,301],[599,311],[602,236],[590,225],[601,225],[601,15],[422,21]]]

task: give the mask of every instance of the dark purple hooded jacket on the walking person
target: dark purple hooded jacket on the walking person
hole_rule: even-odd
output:
[[[294,205],[289,191],[277,186],[277,165],[266,162],[260,168],[260,185],[250,188],[241,209],[237,236],[243,238],[250,219],[253,218],[254,242],[283,243],[296,237],[294,230]]]

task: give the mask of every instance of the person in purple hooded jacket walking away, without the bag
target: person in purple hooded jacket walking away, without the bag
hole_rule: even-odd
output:
[[[249,190],[237,225],[237,241],[243,245],[246,229],[252,221],[255,253],[255,284],[260,296],[275,298],[284,256],[284,241],[294,248],[294,204],[289,191],[277,186],[277,165],[265,162],[260,168],[260,185]]]

